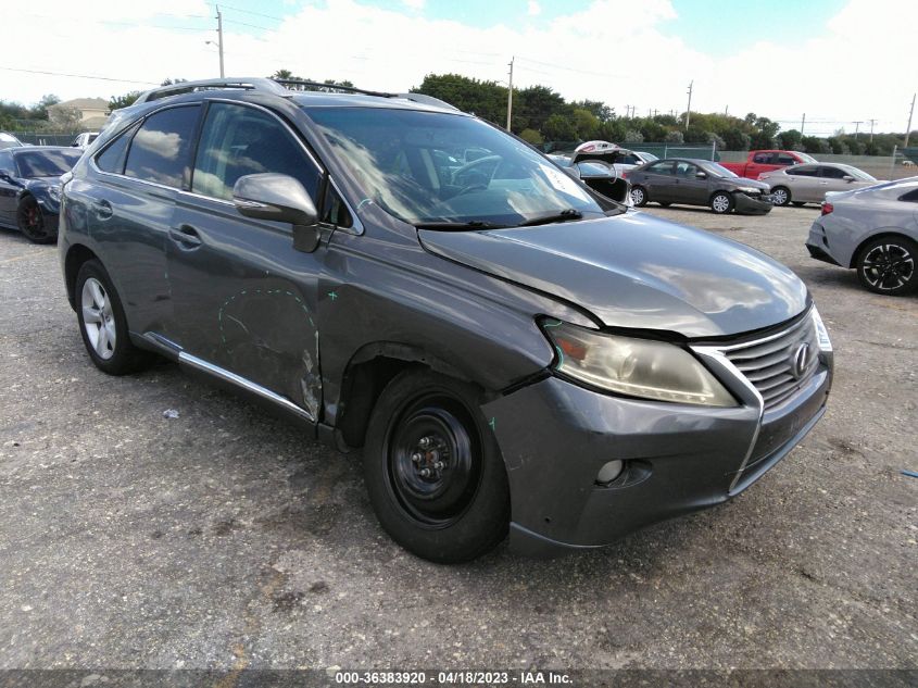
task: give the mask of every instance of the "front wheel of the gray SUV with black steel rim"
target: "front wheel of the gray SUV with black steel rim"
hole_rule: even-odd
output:
[[[386,386],[369,421],[373,509],[395,542],[429,561],[470,561],[506,537],[506,472],[479,403],[470,385],[410,370]]]

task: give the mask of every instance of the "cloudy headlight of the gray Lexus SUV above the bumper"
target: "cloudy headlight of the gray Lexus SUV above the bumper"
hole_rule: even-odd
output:
[[[732,395],[691,353],[665,341],[607,335],[561,321],[542,322],[555,370],[601,389],[705,406],[735,406]]]

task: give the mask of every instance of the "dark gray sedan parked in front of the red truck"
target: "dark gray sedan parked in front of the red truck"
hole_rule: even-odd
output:
[[[771,211],[768,185],[738,177],[716,162],[693,158],[667,158],[632,170],[631,200],[634,205],[654,201],[707,205],[715,213],[735,211],[764,215]]]

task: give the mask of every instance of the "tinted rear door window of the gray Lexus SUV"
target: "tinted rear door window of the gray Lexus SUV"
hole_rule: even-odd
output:
[[[197,122],[197,105],[171,108],[147,117],[130,142],[124,173],[180,188]]]

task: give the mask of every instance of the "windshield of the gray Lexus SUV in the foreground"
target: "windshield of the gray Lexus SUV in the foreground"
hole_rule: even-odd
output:
[[[580,184],[474,117],[381,108],[304,108],[367,193],[411,224],[516,226],[601,215]],[[474,228],[474,227],[469,227]]]

